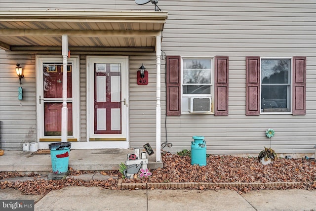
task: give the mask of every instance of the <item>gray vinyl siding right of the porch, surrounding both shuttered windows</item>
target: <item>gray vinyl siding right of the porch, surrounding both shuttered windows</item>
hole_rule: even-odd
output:
[[[274,128],[277,153],[314,152],[316,4],[275,2],[203,1],[193,6],[193,1],[181,1],[178,10],[168,9],[161,44],[167,55],[229,56],[229,116],[167,117],[167,140],[173,147],[165,150],[190,149],[191,137],[202,135],[207,153],[255,154],[270,146],[265,130]],[[307,56],[307,114],[245,116],[245,56]]]

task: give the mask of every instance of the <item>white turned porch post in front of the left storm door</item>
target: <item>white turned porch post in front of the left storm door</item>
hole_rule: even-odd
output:
[[[68,35],[62,37],[63,55],[63,107],[61,109],[61,142],[67,142],[68,133],[68,108],[67,108],[67,56],[68,56]]]

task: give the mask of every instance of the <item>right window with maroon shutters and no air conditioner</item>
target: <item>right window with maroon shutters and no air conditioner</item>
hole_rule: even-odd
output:
[[[293,115],[304,115],[305,80],[306,57],[292,59],[247,56],[246,115],[290,114],[291,110]]]

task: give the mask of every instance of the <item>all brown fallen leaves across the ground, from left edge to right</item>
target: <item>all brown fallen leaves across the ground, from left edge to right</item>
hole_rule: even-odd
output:
[[[296,187],[270,187],[270,189],[316,189],[316,162],[315,159],[283,159],[279,158],[274,163],[262,165],[257,158],[236,157],[230,155],[210,155],[207,157],[207,165],[200,167],[191,165],[189,156],[180,156],[167,152],[161,155],[162,169],[152,169],[152,176],[134,179],[124,179],[128,182],[302,182]],[[93,173],[95,171],[79,171],[70,169],[69,175]],[[101,171],[104,175],[110,175],[109,180],[82,181],[78,179],[47,180],[39,174],[23,175],[18,172],[0,172],[0,189],[15,188],[24,194],[44,195],[51,190],[61,189],[66,186],[98,186],[107,189],[118,189],[118,178],[121,174],[118,170]],[[10,181],[11,177],[33,177],[34,181]],[[197,189],[205,189],[203,186]],[[266,189],[267,187],[222,187],[236,190],[238,193],[248,192],[253,189]],[[213,187],[219,189],[219,187]]]

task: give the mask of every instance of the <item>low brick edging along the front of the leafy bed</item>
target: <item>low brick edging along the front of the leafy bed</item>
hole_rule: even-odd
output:
[[[303,182],[148,182],[148,183],[123,183],[122,179],[118,180],[119,189],[151,189],[151,188],[193,188],[199,186],[210,187],[295,187],[302,185]]]

